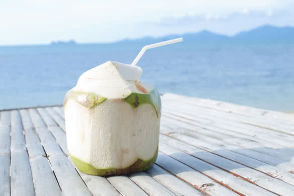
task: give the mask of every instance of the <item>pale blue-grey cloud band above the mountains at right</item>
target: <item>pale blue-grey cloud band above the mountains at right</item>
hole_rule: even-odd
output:
[[[158,22],[145,23],[164,29],[174,29],[174,33],[197,32],[203,29],[226,35],[234,35],[264,24],[275,26],[294,26],[294,14],[286,11],[272,12],[271,9],[256,11],[242,9],[239,12],[224,14],[207,13],[203,15],[168,17]]]

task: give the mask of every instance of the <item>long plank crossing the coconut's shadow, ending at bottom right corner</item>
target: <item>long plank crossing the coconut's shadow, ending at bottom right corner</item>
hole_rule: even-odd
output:
[[[257,184],[258,186],[261,186],[267,190],[273,191],[281,195],[291,195],[290,192],[294,191],[293,185],[290,185],[279,179],[270,177],[264,173],[246,167],[239,163],[230,161],[226,158],[206,152],[204,150],[191,146],[188,143],[183,143],[167,136],[162,136],[161,141],[164,141],[164,143],[168,145],[176,146],[181,151],[188,153],[193,157],[204,160],[214,166],[217,166],[230,173],[233,173],[236,176],[242,177],[244,180],[248,180],[251,183]]]

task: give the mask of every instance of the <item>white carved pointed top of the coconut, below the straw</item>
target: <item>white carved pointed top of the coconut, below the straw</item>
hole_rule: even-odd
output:
[[[141,83],[141,67],[107,61],[84,72],[72,89],[93,92],[107,99],[122,99],[132,92],[148,93],[153,86]]]

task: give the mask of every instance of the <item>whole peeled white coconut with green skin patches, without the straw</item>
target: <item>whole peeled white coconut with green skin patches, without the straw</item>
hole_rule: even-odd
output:
[[[158,154],[161,101],[139,81],[138,66],[108,61],[83,73],[64,99],[67,148],[91,175],[120,175],[152,167]]]

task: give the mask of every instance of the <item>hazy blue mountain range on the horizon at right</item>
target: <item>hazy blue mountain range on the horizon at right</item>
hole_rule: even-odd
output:
[[[236,34],[235,36],[225,36],[216,34],[208,30],[203,30],[197,33],[186,34],[173,34],[162,37],[144,37],[139,39],[125,39],[118,43],[155,43],[183,37],[186,42],[198,42],[198,43],[235,43],[235,42],[266,42],[266,43],[294,43],[294,27],[275,27],[265,25],[252,29],[250,31],[244,31]]]

